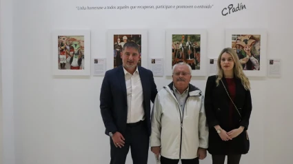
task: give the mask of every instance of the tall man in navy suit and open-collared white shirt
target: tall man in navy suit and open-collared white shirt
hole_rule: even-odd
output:
[[[110,136],[110,164],[124,164],[130,147],[133,163],[147,164],[150,101],[158,91],[152,72],[137,65],[137,43],[125,43],[121,59],[123,65],[105,72],[100,95],[105,134]]]

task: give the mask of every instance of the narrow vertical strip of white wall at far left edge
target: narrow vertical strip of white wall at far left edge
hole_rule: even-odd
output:
[[[12,21],[13,1],[0,0],[0,45],[1,45],[1,83],[2,103],[1,163],[14,164],[14,111],[13,111],[13,54],[12,54]],[[1,134],[1,133],[0,133]]]

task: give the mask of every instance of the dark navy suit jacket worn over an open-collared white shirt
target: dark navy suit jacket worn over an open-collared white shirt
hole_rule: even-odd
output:
[[[154,77],[150,70],[139,67],[139,76],[143,88],[143,110],[147,121],[148,133],[150,134],[150,101],[154,102],[157,94]],[[125,85],[125,74],[123,66],[108,70],[101,86],[100,108],[105,134],[109,132],[125,133],[127,124],[127,95]]]

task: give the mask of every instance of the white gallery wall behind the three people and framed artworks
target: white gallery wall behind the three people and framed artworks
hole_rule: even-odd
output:
[[[243,156],[241,163],[292,163],[290,139],[293,136],[293,103],[290,96],[292,88],[289,87],[293,80],[290,74],[292,1],[246,0],[242,3],[247,10],[226,17],[221,15],[221,10],[230,3],[236,4],[234,1],[1,2],[6,4],[5,8],[1,6],[3,112],[6,112],[3,113],[6,123],[3,132],[4,139],[8,141],[4,143],[4,164],[14,163],[14,152],[17,164],[109,163],[109,139],[103,134],[99,110],[103,77],[57,78],[52,76],[50,70],[52,30],[83,28],[92,30],[92,57],[106,57],[105,32],[109,28],[149,29],[149,57],[165,57],[165,28],[206,28],[208,57],[217,57],[225,46],[225,28],[267,28],[267,57],[283,59],[283,72],[279,79],[250,78],[253,99],[249,130],[251,150]],[[205,10],[154,11],[75,8],[164,4],[213,4],[214,7]],[[8,18],[13,18],[13,24]],[[155,81],[161,89],[171,79],[156,77]],[[192,84],[204,91],[205,81],[206,77],[194,77]],[[10,135],[12,139],[5,138]],[[149,163],[154,163],[151,152],[149,156]],[[12,162],[8,161],[10,157]],[[132,163],[128,157],[127,163]],[[210,156],[201,163],[211,163]]]

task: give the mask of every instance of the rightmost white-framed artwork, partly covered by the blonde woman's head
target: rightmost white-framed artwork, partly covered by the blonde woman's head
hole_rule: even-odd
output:
[[[246,76],[267,74],[267,34],[263,29],[227,29],[225,46],[233,48]]]

